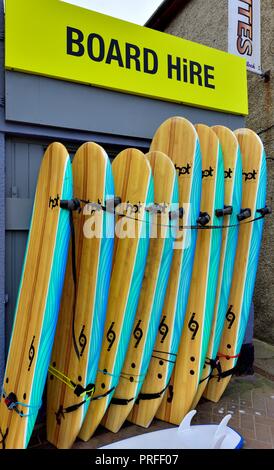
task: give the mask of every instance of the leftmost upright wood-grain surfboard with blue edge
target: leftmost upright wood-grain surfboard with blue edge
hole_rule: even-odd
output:
[[[70,238],[71,162],[53,143],[40,167],[0,401],[0,446],[28,446],[41,406]]]

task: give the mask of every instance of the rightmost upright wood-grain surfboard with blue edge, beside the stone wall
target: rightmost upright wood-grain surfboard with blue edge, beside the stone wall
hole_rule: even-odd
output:
[[[230,381],[243,342],[256,280],[266,204],[267,168],[262,141],[249,129],[239,129],[235,135],[242,154],[242,208],[251,210],[251,221],[262,218],[240,224],[226,321],[218,352],[222,372],[228,375],[212,377],[204,393],[214,402],[219,401]]]

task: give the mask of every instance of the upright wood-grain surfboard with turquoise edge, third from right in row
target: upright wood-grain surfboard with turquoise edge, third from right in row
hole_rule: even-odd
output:
[[[210,225],[221,226],[223,217],[217,210],[224,209],[224,165],[219,139],[208,126],[195,126],[202,154],[201,212],[210,216]],[[198,231],[191,287],[184,328],[176,364],[156,417],[180,424],[190,410],[198,389],[205,363],[216,297],[221,229]]]

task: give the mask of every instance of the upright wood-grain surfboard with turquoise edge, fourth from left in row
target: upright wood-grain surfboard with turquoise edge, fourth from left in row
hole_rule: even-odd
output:
[[[178,177],[172,161],[158,151],[150,152],[146,157],[154,180],[155,212],[151,220],[146,270],[125,363],[111,405],[101,423],[113,432],[119,431],[133,408],[149,366],[160,324],[173,256],[175,226],[178,223],[176,217],[170,216],[172,213],[179,215]]]

